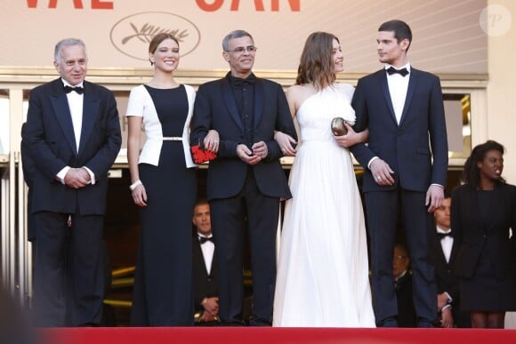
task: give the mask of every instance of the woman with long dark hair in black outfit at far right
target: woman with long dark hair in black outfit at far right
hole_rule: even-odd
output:
[[[464,164],[464,185],[452,195],[461,308],[477,328],[504,328],[505,312],[516,310],[516,240],[510,237],[510,228],[516,229],[516,187],[505,182],[503,170],[504,146],[488,140],[473,148]]]

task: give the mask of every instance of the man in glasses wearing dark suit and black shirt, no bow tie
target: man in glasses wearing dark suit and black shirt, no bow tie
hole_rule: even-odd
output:
[[[217,159],[210,162],[207,197],[221,276],[222,323],[243,324],[244,229],[253,273],[252,325],[270,325],[276,281],[279,200],[291,197],[274,140],[275,131],[296,138],[281,86],[254,76],[253,37],[236,30],[222,41],[230,72],[198,88],[190,141],[219,132]]]

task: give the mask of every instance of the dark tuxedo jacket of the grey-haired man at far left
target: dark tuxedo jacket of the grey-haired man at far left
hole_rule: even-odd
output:
[[[62,80],[37,86],[30,92],[24,141],[36,166],[32,185],[32,212],[103,214],[108,171],[122,144],[117,103],[113,92],[84,82],[81,138],[77,149],[68,98]],[[89,168],[94,185],[69,188],[56,180],[64,167]]]

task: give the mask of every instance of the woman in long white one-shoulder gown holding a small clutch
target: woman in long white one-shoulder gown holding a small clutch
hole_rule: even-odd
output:
[[[353,87],[335,83],[343,71],[337,37],[316,32],[304,46],[294,86],[286,91],[300,128],[278,258],[273,326],[375,327],[368,280],[367,239],[359,188],[347,148],[367,132],[335,137],[332,119],[354,123]],[[355,140],[355,141],[353,141]]]

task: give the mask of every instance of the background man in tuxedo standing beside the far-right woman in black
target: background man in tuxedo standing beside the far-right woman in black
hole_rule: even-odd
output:
[[[460,311],[459,282],[455,274],[458,244],[454,239],[451,221],[451,197],[447,196],[434,212],[436,233],[432,246],[437,284],[437,309],[442,327],[472,327],[470,315]]]

